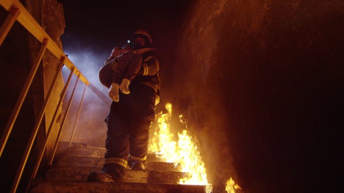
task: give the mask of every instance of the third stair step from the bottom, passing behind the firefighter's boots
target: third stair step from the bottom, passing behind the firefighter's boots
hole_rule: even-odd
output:
[[[104,158],[63,156],[57,160],[58,166],[103,167]],[[55,163],[54,163],[55,164]],[[181,165],[167,162],[146,161],[145,169],[150,171],[181,171]]]

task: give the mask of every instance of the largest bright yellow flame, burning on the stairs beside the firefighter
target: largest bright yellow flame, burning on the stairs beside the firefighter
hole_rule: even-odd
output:
[[[204,162],[202,161],[200,152],[194,139],[189,136],[187,125],[180,115],[180,121],[185,125],[182,133],[178,133],[178,142],[175,141],[174,135],[170,133],[170,125],[168,123],[172,115],[172,104],[165,105],[166,114],[162,112],[156,115],[157,128],[150,140],[149,151],[157,152],[157,156],[164,161],[174,162],[176,165],[180,163],[181,170],[186,172],[186,176],[181,178],[178,183],[181,184],[198,184],[206,185],[207,192],[212,191],[211,185],[207,180],[207,173]]]

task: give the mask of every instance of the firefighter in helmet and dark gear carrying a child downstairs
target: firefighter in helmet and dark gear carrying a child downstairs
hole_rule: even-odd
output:
[[[105,119],[108,131],[104,165],[102,171],[91,172],[88,181],[121,181],[127,167],[144,170],[149,127],[159,101],[160,59],[152,48],[152,38],[143,30],[133,34],[130,47],[141,54],[141,69],[130,82],[130,94],[119,92],[120,100],[111,104]],[[109,95],[111,92],[110,87]]]

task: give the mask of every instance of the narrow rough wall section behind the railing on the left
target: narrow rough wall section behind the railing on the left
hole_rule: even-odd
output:
[[[59,46],[60,49],[62,49],[62,42],[60,40],[60,37],[63,34],[65,27],[62,4],[58,3],[56,0],[27,0],[26,8],[35,18],[35,20],[42,26],[42,28],[50,36],[50,38]],[[29,37],[31,62],[35,60],[36,55],[40,49],[40,46],[41,44],[37,42],[37,40],[34,37]],[[57,59],[52,53],[50,53],[50,51],[47,50],[42,58],[42,64],[38,69],[35,81],[33,82],[36,116],[39,114],[41,110],[44,99],[49,91],[52,80],[55,76],[58,64],[59,59]],[[45,111],[45,116],[43,119],[45,121],[42,121],[41,130],[37,136],[39,144],[43,143],[45,139],[45,133],[50,127],[51,120],[54,115],[58,101],[60,99],[60,93],[62,91],[63,86],[64,82],[62,79],[62,74],[60,73],[59,77],[57,78],[54,90],[51,94],[51,99],[49,100],[49,103]],[[61,116],[61,111],[62,108],[60,107],[57,116]],[[56,139],[58,129],[59,122],[58,120],[56,120],[53,123],[51,137],[47,145],[48,157],[51,155],[51,151],[54,146],[54,140]]]

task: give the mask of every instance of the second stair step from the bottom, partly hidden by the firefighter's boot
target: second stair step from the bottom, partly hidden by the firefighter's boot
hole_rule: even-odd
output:
[[[86,181],[91,171],[101,171],[101,168],[95,167],[59,167],[51,168],[45,175],[46,179],[57,180],[76,180]],[[137,183],[169,183],[177,184],[179,179],[186,173],[176,171],[138,171],[128,169],[123,182]]]

